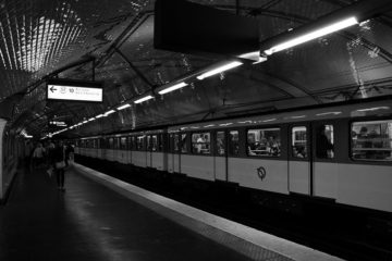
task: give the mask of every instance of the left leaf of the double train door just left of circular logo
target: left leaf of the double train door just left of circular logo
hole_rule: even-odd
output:
[[[213,173],[215,179],[228,182],[228,151],[226,151],[226,133],[217,130],[213,135],[215,151],[213,153]]]

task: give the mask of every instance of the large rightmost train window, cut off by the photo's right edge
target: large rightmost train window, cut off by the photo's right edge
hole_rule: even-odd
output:
[[[354,122],[351,138],[353,159],[392,161],[392,120]]]

